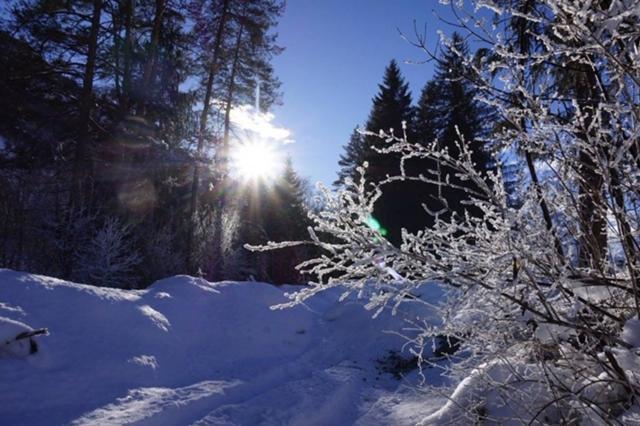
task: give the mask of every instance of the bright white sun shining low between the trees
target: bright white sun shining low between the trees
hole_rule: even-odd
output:
[[[265,141],[250,141],[236,145],[231,152],[233,173],[244,180],[271,180],[282,165],[273,146]]]

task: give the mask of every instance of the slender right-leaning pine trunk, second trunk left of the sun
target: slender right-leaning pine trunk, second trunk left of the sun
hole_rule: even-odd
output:
[[[216,38],[213,48],[213,57],[211,58],[211,65],[209,68],[209,75],[207,78],[207,86],[204,96],[204,102],[202,106],[202,113],[200,114],[200,127],[198,131],[198,147],[196,150],[196,159],[193,166],[193,177],[191,182],[191,200],[189,211],[189,232],[187,235],[187,267],[190,273],[197,272],[196,259],[194,253],[194,237],[195,237],[195,222],[198,214],[198,189],[200,186],[200,162],[202,157],[202,151],[204,149],[204,138],[207,131],[207,120],[209,117],[209,109],[211,102],[211,95],[213,92],[213,81],[218,70],[218,57],[220,56],[220,48],[222,46],[222,37],[226,26],[229,3],[231,0],[224,0],[222,4],[222,11],[220,14],[220,21],[218,22],[218,29],[216,31]]]

